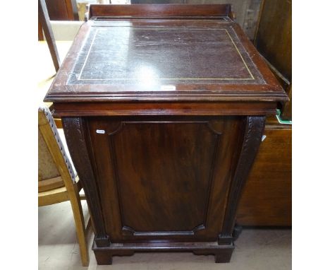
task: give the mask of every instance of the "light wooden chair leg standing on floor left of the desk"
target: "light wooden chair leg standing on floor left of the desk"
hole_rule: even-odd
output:
[[[88,266],[90,264],[90,257],[88,255],[85,233],[85,221],[82,213],[81,202],[78,196],[70,198],[71,207],[73,211],[73,218],[75,219],[75,230],[77,232],[77,239],[80,248],[80,257],[82,266]]]

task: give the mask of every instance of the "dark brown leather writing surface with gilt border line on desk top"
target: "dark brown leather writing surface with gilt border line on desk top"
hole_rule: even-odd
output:
[[[169,83],[265,83],[228,26],[116,23],[90,30],[67,84],[134,84],[138,90],[161,90]]]

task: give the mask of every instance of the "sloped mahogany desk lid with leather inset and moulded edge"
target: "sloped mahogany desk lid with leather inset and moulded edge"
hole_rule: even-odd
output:
[[[45,101],[287,100],[240,27],[214,19],[82,25]]]

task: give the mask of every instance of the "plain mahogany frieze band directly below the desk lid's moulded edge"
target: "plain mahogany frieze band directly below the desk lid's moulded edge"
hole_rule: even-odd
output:
[[[150,98],[150,97],[145,97]],[[118,115],[274,115],[276,104],[271,102],[62,102],[54,104],[54,115],[118,116]],[[74,97],[68,101],[74,101]],[[76,101],[80,100],[77,96]],[[193,97],[190,97],[193,100]],[[216,100],[216,98],[214,98]],[[138,106],[137,106],[138,104]]]

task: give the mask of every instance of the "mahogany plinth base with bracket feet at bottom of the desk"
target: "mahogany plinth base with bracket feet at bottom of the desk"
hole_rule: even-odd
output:
[[[193,252],[196,255],[214,255],[216,263],[230,262],[234,245],[219,245],[218,242],[171,242],[171,243],[128,243],[111,244],[109,247],[97,247],[92,250],[97,264],[112,264],[113,256],[131,256],[135,252]]]

